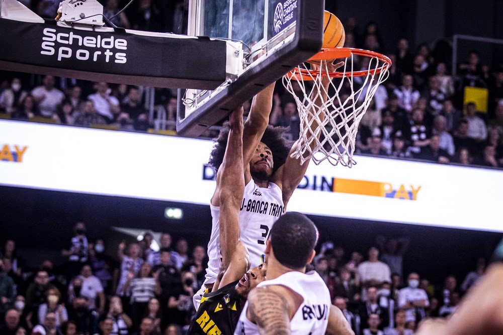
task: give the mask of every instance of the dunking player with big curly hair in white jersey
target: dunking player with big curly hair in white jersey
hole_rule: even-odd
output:
[[[329,63],[329,70],[336,70],[344,63]],[[312,65],[316,68],[316,65]],[[323,78],[324,91],[320,98],[326,99],[326,91],[330,78]],[[283,214],[288,200],[304,177],[308,162],[303,165],[298,159],[290,157],[296,144],[291,150],[282,134],[284,128],[268,126],[272,109],[274,85],[265,88],[255,96],[251,105],[251,112],[243,127],[243,168],[244,194],[240,205],[239,223],[240,239],[249,251],[250,266],[261,264],[261,258],[266,247],[266,240],[275,220]],[[321,105],[321,101],[315,101]],[[313,122],[311,129],[317,127]],[[211,291],[215,283],[220,266],[221,250],[218,218],[220,215],[220,165],[223,161],[228,139],[228,128],[224,127],[217,138],[211,153],[210,165],[217,170],[217,185],[211,198],[212,232],[208,244],[208,268],[206,279],[201,289],[194,295],[194,305],[199,307],[199,301],[205,291]],[[317,134],[319,136],[319,134]],[[315,141],[313,141],[313,146]]]

